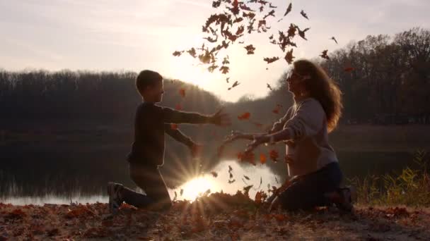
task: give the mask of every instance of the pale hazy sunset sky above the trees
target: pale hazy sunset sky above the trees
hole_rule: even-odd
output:
[[[277,16],[289,0],[272,1]],[[0,0],[0,68],[6,70],[156,70],[166,78],[199,85],[227,101],[244,94],[263,97],[288,68],[283,59],[270,64],[263,57],[283,56],[252,35],[256,47],[247,56],[243,45],[229,48],[231,80],[241,84],[227,91],[225,75],[207,73],[189,55],[175,50],[199,47],[202,25],[214,13],[209,0]],[[297,41],[296,58],[313,58],[323,49],[334,51],[367,35],[393,35],[411,27],[430,27],[429,0],[301,0],[272,30],[290,23],[310,27],[308,42]],[[306,11],[310,20],[301,17]],[[269,24],[270,25],[270,24]],[[277,35],[275,35],[277,36]],[[335,36],[339,44],[329,38]],[[269,67],[269,70],[266,70]]]

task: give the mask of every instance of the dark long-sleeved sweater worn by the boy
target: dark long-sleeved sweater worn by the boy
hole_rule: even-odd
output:
[[[192,147],[192,140],[170,123],[209,123],[211,118],[199,113],[175,111],[153,103],[143,102],[137,107],[134,120],[134,142],[127,160],[144,166],[161,166],[164,162],[164,133],[178,142]]]

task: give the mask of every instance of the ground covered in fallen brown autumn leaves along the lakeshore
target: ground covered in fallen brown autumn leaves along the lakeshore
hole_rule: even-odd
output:
[[[169,211],[123,204],[0,204],[0,240],[430,240],[430,212],[358,206],[268,214],[245,195],[211,194]]]

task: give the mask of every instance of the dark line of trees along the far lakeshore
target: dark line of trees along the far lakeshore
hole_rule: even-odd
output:
[[[320,62],[344,93],[341,123],[430,123],[430,31],[414,27],[390,37],[369,35],[351,42]],[[134,87],[136,73],[0,70],[0,119],[2,123],[132,123],[141,101]],[[223,103],[210,92],[178,80],[166,80],[163,104],[210,113],[224,104],[234,113],[249,111],[267,125],[277,104],[281,111],[292,104],[285,75],[263,99],[243,97]],[[182,101],[179,89],[186,89]],[[269,111],[268,111],[269,110]],[[269,116],[269,117],[267,117]],[[387,118],[388,117],[388,118]]]

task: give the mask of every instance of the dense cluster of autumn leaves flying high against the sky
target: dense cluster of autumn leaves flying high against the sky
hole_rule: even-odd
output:
[[[273,63],[280,58],[284,58],[287,63],[291,64],[294,60],[293,48],[297,47],[294,38],[298,36],[307,40],[306,32],[310,29],[309,27],[302,29],[298,25],[291,23],[286,31],[272,30],[270,23],[277,20],[277,12],[275,11],[277,6],[274,6],[271,1],[216,0],[212,2],[212,7],[215,8],[214,12],[216,13],[211,14],[204,25],[202,25],[202,32],[204,35],[207,35],[203,37],[202,46],[173,52],[173,56],[181,56],[187,53],[192,58],[197,58],[199,63],[207,66],[207,70],[211,73],[214,70],[219,70],[223,74],[229,73],[230,61],[228,55],[226,54],[221,58],[219,55],[225,52],[228,47],[231,47],[232,44],[244,44],[243,49],[245,49],[246,54],[255,54],[257,48],[254,44],[245,43],[244,39],[248,39],[245,38],[246,35],[254,33],[266,33],[269,35],[272,32],[268,37],[269,43],[277,45],[283,55],[281,57],[271,56],[263,58],[267,63]],[[289,3],[284,11],[278,13],[283,15],[277,22],[284,20],[292,10],[293,5]],[[301,10],[300,14],[303,18],[309,20],[305,11]],[[277,35],[276,37],[274,36],[275,34]],[[239,82],[236,81],[228,89],[233,89],[238,85]]]

